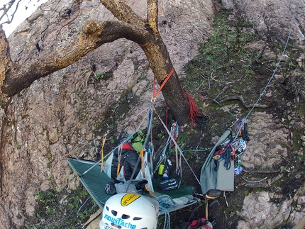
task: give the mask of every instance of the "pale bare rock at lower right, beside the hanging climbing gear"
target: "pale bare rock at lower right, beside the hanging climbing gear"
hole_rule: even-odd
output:
[[[289,130],[274,116],[265,112],[253,113],[248,125],[251,139],[247,143],[247,150],[241,155],[243,167],[256,176],[258,173],[255,171],[265,172],[267,177],[263,180],[255,177],[255,181],[250,181],[251,183],[245,186],[267,188],[282,179],[284,176],[282,172],[290,173],[294,169],[294,167],[280,168],[279,164],[287,160],[288,154],[297,152],[289,150]],[[299,192],[304,190],[304,185],[299,190],[294,190],[296,196],[293,199],[287,196],[284,201],[280,201],[283,196],[279,194],[279,187],[274,190],[275,192],[269,193],[257,191],[245,196],[243,208],[238,212],[238,216],[243,218],[238,222],[238,228],[276,228],[288,218],[294,219],[295,222],[301,220],[305,214],[305,196]]]

